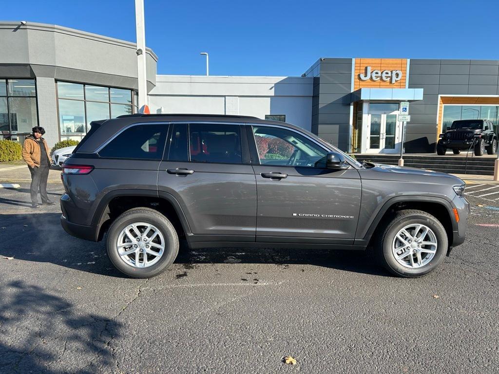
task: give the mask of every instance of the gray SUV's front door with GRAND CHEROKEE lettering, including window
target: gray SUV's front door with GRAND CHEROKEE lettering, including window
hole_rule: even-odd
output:
[[[256,241],[352,244],[361,197],[357,170],[326,169],[328,150],[289,128],[253,125],[248,137],[258,154]]]

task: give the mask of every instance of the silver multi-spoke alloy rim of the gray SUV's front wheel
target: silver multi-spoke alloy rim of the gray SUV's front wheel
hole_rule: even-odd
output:
[[[437,253],[437,236],[433,230],[419,223],[400,229],[392,242],[395,260],[408,268],[427,265]]]

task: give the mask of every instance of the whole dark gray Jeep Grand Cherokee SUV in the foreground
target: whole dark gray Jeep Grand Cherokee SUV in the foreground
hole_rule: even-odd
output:
[[[464,242],[469,204],[448,174],[360,164],[282,122],[211,115],[94,121],[63,165],[61,223],[107,232],[113,264],[151,277],[189,248],[373,248],[418,277]]]

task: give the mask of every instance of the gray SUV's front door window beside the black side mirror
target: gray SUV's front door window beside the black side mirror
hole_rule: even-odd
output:
[[[327,151],[294,131],[253,126],[253,134],[261,165],[325,167]]]

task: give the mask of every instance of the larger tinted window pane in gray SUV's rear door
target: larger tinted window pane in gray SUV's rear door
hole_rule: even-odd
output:
[[[189,125],[191,161],[242,164],[241,127],[229,124]]]

